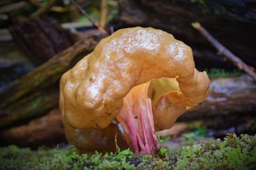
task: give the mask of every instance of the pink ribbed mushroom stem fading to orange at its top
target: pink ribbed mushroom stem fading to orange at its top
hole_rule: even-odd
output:
[[[159,149],[155,134],[152,104],[147,96],[149,83],[134,87],[124,97],[118,122],[124,129],[125,139],[134,153],[150,154]]]

